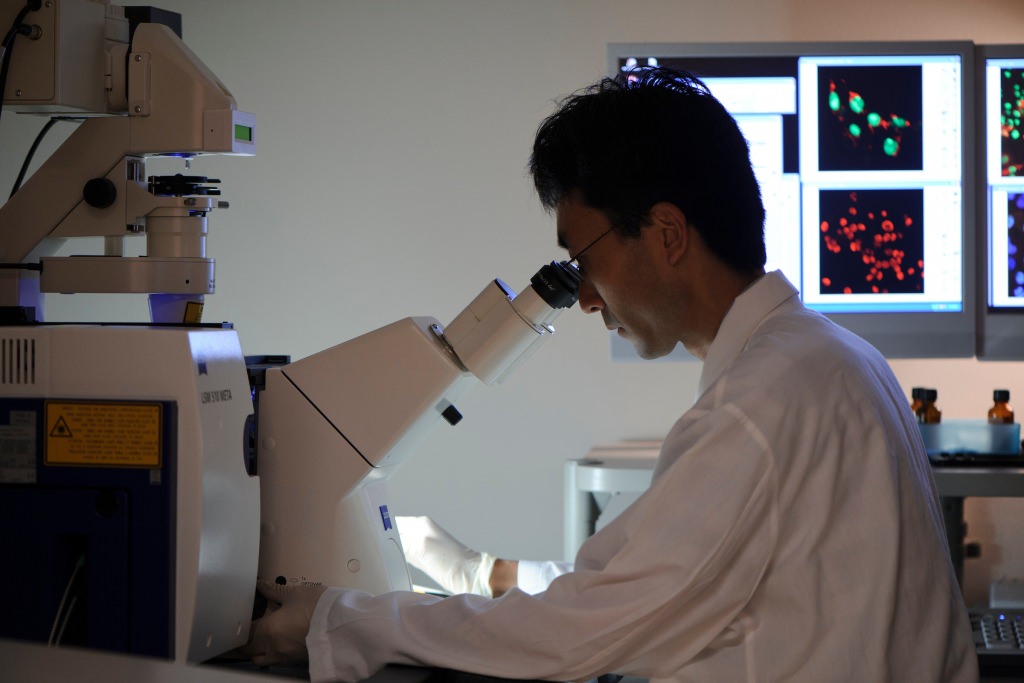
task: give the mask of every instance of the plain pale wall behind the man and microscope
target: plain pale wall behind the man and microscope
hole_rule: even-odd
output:
[[[211,217],[217,294],[206,319],[232,322],[248,353],[293,357],[407,315],[447,323],[492,278],[521,289],[559,257],[525,162],[553,100],[604,74],[609,42],[1024,41],[1020,0],[156,4],[183,14],[186,43],[258,121],[255,158],[193,166],[222,178],[232,205]],[[39,125],[0,121],[0,188]],[[145,315],[139,300],[83,295],[51,299],[48,313]],[[696,364],[612,365],[600,319],[572,310],[556,327],[396,475],[400,513],[432,514],[498,554],[558,557],[562,461],[597,442],[659,437],[691,402]],[[893,366],[906,387],[938,387],[948,417],[983,415],[996,385],[1024,400],[1019,364]],[[999,514],[985,506],[978,528],[1009,570],[1019,555],[1024,574],[1024,549],[1011,547],[1024,544],[988,523]]]

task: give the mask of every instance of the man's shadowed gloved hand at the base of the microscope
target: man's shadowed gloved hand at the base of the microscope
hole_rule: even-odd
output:
[[[256,583],[267,599],[266,614],[253,622],[249,643],[241,648],[259,667],[307,661],[306,634],[326,586],[281,586],[266,581]]]

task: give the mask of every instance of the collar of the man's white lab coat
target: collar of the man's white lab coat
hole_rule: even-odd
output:
[[[761,322],[780,304],[798,294],[797,288],[786,280],[781,270],[773,270],[736,297],[722,319],[715,340],[708,348],[697,385],[698,398],[742,352]]]

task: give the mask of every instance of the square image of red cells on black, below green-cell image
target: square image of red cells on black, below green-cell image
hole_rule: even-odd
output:
[[[923,214],[921,189],[821,190],[820,292],[924,292]]]

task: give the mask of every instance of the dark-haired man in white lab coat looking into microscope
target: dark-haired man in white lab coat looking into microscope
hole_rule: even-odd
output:
[[[703,360],[650,488],[536,595],[511,585],[514,563],[494,565],[496,599],[266,588],[282,607],[254,628],[257,661],[308,648],[315,681],[386,664],[562,681],[977,680],[903,392],[873,348],[764,273],[760,193],[722,105],[666,70],[602,81],[542,124],[530,170],[584,311],[645,358],[682,343]]]

